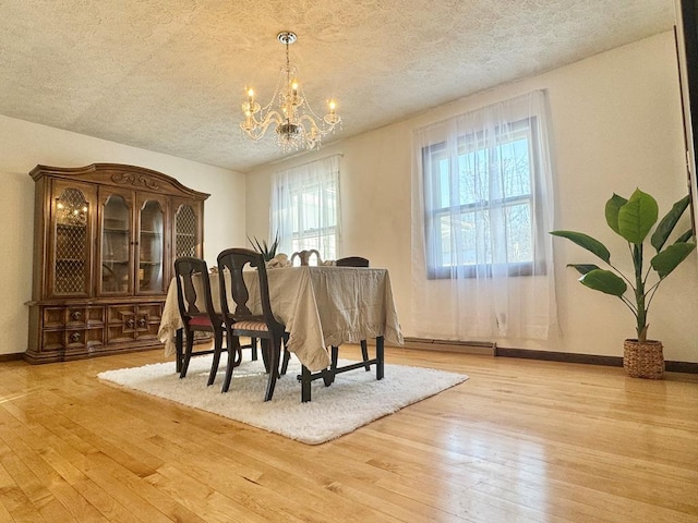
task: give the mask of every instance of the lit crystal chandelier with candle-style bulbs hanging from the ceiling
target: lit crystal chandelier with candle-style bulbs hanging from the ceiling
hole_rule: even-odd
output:
[[[277,144],[284,153],[314,149],[320,147],[323,136],[341,122],[341,117],[335,112],[335,100],[327,102],[329,112],[323,118],[310,107],[298,82],[296,68],[288,59],[288,46],[296,41],[296,33],[285,31],[276,38],[286,46],[286,66],[281,68],[274,96],[265,107],[255,101],[254,90],[245,87],[248,100],[242,102],[244,120],[240,122],[240,129],[256,142],[274,124]],[[275,101],[277,107],[274,107]]]

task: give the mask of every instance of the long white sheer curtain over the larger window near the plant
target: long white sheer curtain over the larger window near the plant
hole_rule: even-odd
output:
[[[419,129],[413,148],[414,336],[547,339],[557,318],[545,93]]]

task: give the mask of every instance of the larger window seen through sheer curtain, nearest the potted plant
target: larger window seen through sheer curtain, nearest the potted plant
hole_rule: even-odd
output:
[[[535,126],[537,118],[529,117],[465,133],[453,154],[445,142],[424,147],[430,278],[449,278],[455,270],[462,277],[489,273],[495,263],[508,276],[533,272],[534,242],[543,234],[533,198]]]

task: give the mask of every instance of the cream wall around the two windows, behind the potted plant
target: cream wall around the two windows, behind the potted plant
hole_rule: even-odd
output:
[[[341,255],[359,254],[387,267],[404,333],[410,336],[410,162],[412,131],[452,114],[532,90],[547,89],[555,154],[556,229],[590,233],[625,264],[625,245],[605,224],[603,208],[616,192],[636,186],[654,195],[660,212],[687,192],[674,37],[664,33],[575,64],[470,96],[417,118],[248,174],[248,232],[268,234],[270,174],[313,157],[342,154]],[[685,226],[688,227],[686,219]],[[634,317],[612,296],[576,282],[568,263],[594,262],[555,240],[561,335],[547,342],[496,340],[501,346],[581,354],[623,354],[635,337]],[[667,360],[698,362],[698,256],[684,263],[650,311],[651,338]]]

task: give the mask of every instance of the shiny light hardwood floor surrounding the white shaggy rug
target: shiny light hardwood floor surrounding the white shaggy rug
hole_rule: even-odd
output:
[[[388,348],[470,379],[312,447],[96,378],[161,360],[0,363],[0,522],[698,522],[696,375]]]

